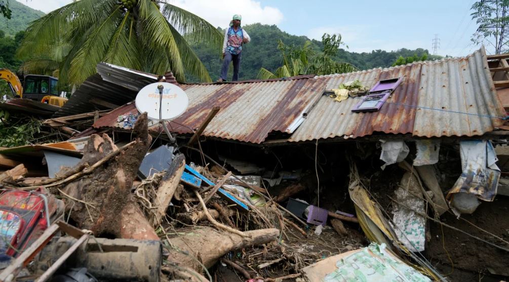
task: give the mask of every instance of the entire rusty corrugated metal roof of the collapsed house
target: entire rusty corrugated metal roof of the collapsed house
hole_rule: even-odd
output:
[[[358,79],[372,87],[380,79],[396,77],[402,77],[403,82],[378,112],[353,113],[351,109],[359,99],[334,102],[323,96],[325,89],[343,82]],[[210,109],[219,106],[221,110],[203,135],[257,144],[267,141],[271,132],[291,135],[285,140],[289,142],[375,133],[475,136],[502,125],[503,120],[493,116],[506,115],[484,49],[463,58],[348,74],[181,87],[189,97],[189,107],[169,122],[171,131],[192,133]],[[133,104],[102,117],[94,127],[119,127],[117,117],[127,112],[136,112]]]

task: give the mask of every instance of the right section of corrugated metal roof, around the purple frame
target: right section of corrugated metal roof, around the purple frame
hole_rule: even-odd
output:
[[[349,98],[334,102],[323,96],[288,141],[355,138],[375,132],[411,133],[418,137],[475,136],[493,131],[503,123],[501,119],[487,117],[506,114],[496,95],[484,48],[463,58],[415,62],[315,79],[326,81],[326,88],[331,89],[356,79],[372,87],[380,79],[395,77],[404,77],[404,80],[380,111],[353,113],[351,109],[360,100]]]

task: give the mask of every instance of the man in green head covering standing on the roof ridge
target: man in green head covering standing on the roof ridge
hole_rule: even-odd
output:
[[[224,32],[224,40],[223,40],[223,53],[222,58],[223,65],[221,67],[221,76],[219,77],[219,82],[226,81],[226,76],[228,74],[228,68],[230,67],[230,62],[233,61],[233,78],[232,81],[239,80],[239,69],[240,69],[240,59],[242,55],[242,44],[248,43],[251,41],[251,38],[246,33],[245,30],[240,27],[240,21],[242,20],[242,16],[234,15],[232,21],[230,22],[230,27],[226,29]]]

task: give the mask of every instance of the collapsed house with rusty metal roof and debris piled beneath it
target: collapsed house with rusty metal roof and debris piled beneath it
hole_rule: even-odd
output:
[[[48,244],[39,270],[66,258],[99,279],[342,281],[370,268],[383,269],[370,281],[507,277],[509,128],[497,87],[509,79],[494,70],[504,58],[482,48],[388,69],[212,84],[100,63],[45,120],[68,141],[0,150],[11,167],[45,162],[49,178],[10,170],[3,184],[44,186],[78,227],[60,223],[76,239]],[[133,103],[158,81],[189,98],[164,123],[172,146]],[[87,118],[90,128],[73,123]],[[102,238],[92,246],[82,236]],[[160,238],[167,262],[155,267]],[[63,253],[82,244],[71,259]],[[138,244],[144,252],[129,260],[151,269],[122,268],[115,247],[91,251],[119,244],[131,253]]]

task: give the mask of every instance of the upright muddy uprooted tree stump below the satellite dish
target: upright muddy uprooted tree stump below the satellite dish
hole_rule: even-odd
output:
[[[134,125],[133,136],[135,140],[123,151],[92,173],[69,182],[62,189],[67,197],[70,196],[69,198],[75,201],[73,205],[67,205],[67,208],[72,209],[71,218],[79,228],[89,229],[96,236],[122,237],[121,229],[125,233],[126,223],[122,222],[123,216],[120,215],[126,205],[133,202],[132,182],[152,141],[148,133],[147,114],[139,116]],[[75,168],[90,167],[117,150],[119,148],[106,134],[92,135],[84,149],[82,160]],[[131,207],[130,210],[131,213],[140,213],[138,207]],[[137,218],[139,220],[136,223],[141,225],[139,228],[150,227],[143,215]]]

